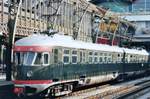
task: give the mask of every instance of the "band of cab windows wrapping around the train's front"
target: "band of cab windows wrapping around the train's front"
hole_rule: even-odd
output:
[[[49,53],[38,52],[16,52],[14,58],[15,65],[41,66],[49,65]]]

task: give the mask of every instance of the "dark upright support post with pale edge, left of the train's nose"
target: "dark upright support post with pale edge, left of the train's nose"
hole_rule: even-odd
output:
[[[18,0],[17,0],[18,1]],[[13,45],[15,40],[15,33],[16,33],[16,25],[18,20],[18,15],[20,12],[20,6],[22,4],[22,0],[17,2],[14,0],[9,0],[9,16],[8,16],[8,33],[9,33],[9,40],[8,44],[6,45],[6,51],[7,51],[7,62],[6,62],[6,80],[10,81],[12,80],[11,74],[12,74],[12,65],[13,65]],[[18,6],[16,5],[18,3]],[[15,10],[17,9],[17,10]],[[14,12],[16,11],[16,12]],[[14,16],[12,16],[14,15]],[[14,18],[12,18],[14,17]]]

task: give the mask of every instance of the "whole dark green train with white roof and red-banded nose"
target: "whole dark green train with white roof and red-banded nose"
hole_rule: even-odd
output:
[[[16,94],[61,96],[79,86],[146,74],[149,53],[74,40],[61,33],[37,34],[15,42],[13,71]]]

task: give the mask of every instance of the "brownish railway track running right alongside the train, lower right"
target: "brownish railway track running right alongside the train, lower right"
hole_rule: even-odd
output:
[[[59,99],[125,99],[150,87],[150,77],[75,91]]]

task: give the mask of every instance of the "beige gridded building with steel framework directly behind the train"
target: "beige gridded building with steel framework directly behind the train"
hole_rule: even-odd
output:
[[[17,8],[18,0],[12,1],[13,8]],[[8,0],[0,1],[1,42],[3,36],[8,35],[9,5]],[[134,32],[131,23],[122,20],[109,9],[86,0],[23,0],[18,13],[16,39],[32,35],[33,32],[54,29],[85,42],[121,45],[124,39],[131,39],[127,34]],[[5,56],[3,45],[0,43],[0,59]]]

